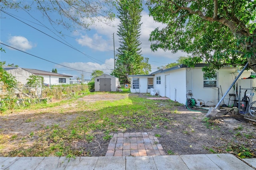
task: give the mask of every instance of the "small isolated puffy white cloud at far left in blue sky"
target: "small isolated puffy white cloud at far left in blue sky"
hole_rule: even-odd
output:
[[[28,39],[22,36],[12,36],[8,39],[8,43],[15,46],[15,48],[26,51],[28,49],[32,49],[32,47],[36,47],[35,44],[29,42]]]

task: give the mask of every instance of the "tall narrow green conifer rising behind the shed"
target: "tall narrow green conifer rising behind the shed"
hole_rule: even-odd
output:
[[[120,47],[116,54],[116,69],[112,75],[119,77],[124,83],[128,83],[127,75],[148,74],[151,66],[148,58],[141,54],[140,48],[140,27],[141,27],[141,0],[120,0],[118,1],[118,25],[117,35],[120,37]]]

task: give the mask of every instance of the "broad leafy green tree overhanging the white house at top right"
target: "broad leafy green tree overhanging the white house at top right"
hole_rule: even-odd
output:
[[[153,51],[187,52],[186,63],[210,63],[208,73],[247,61],[256,71],[255,0],[149,0],[148,9],[166,24],[150,34]]]

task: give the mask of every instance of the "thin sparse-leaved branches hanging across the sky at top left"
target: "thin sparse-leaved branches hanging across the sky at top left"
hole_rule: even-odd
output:
[[[40,10],[52,25],[62,25],[65,28],[76,28],[79,25],[86,29],[94,23],[95,18],[106,24],[113,19],[113,5],[111,0],[0,0],[2,12],[5,9],[22,9],[27,12]],[[51,14],[52,12],[58,12],[59,15]]]

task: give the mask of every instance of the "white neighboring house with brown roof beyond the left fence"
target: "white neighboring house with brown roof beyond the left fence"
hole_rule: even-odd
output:
[[[42,71],[38,69],[25,69],[20,67],[3,67],[8,73],[16,77],[16,80],[22,85],[27,83],[30,75],[38,75],[44,77],[44,84],[46,85],[61,85],[70,84],[70,75],[59,73],[52,73],[49,71]]]

